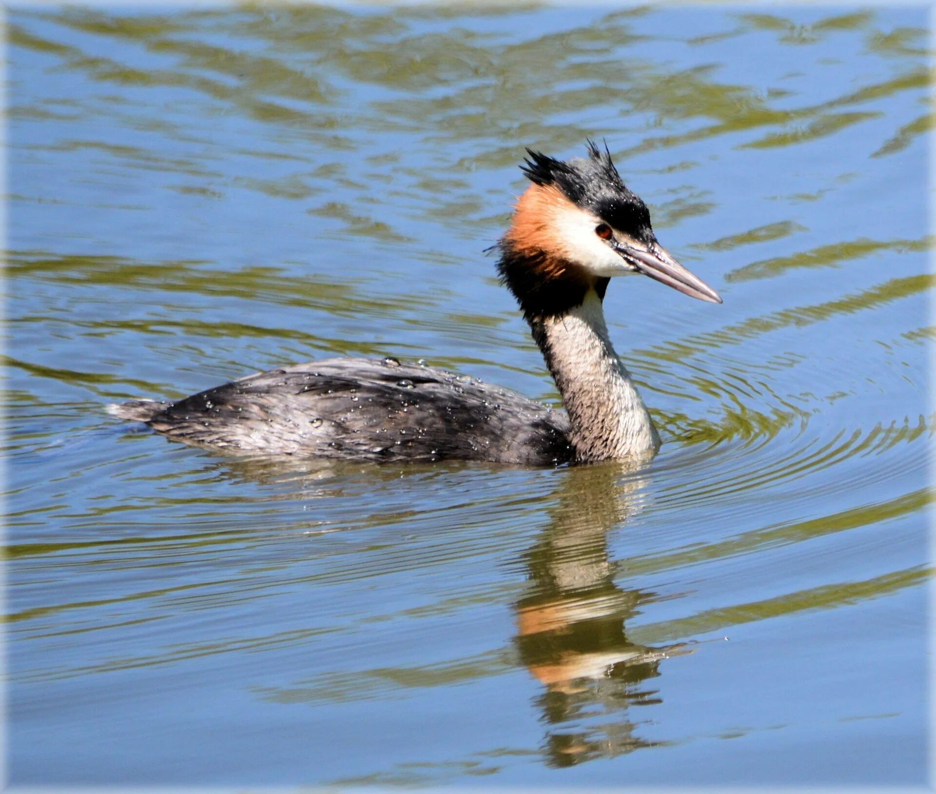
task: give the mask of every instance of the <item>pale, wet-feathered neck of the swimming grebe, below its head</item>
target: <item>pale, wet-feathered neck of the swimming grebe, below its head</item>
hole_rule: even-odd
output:
[[[533,336],[563,396],[579,460],[652,455],[660,438],[630,373],[607,336],[601,297],[551,316],[528,315]]]

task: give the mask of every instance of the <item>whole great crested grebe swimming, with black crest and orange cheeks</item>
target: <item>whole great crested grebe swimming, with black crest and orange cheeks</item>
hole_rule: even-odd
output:
[[[558,464],[652,455],[660,438],[607,336],[612,276],[643,273],[721,303],[656,241],[650,212],[607,147],[568,162],[528,149],[532,184],[496,248],[565,411],[500,386],[395,358],[329,358],[248,375],[178,402],[133,400],[116,416],[241,455]]]

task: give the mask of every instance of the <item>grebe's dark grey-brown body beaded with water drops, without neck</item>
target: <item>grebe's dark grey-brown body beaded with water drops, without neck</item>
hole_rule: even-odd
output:
[[[112,412],[169,438],[233,454],[527,465],[574,457],[564,411],[392,358],[312,361],[178,402],[138,400]]]

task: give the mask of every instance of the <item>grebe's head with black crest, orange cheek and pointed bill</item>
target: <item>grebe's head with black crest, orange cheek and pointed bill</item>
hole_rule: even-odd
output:
[[[562,313],[607,279],[643,273],[685,295],[722,298],[657,242],[650,211],[611,162],[588,142],[588,157],[563,161],[528,149],[520,166],[532,184],[500,242],[499,270],[528,316]]]

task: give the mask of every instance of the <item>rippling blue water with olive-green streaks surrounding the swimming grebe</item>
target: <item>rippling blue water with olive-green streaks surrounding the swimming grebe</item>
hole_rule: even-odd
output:
[[[912,785],[924,8],[12,8],[14,785]],[[645,469],[232,460],[112,419],[332,354],[558,400],[483,251],[604,138],[724,297],[612,282]]]

